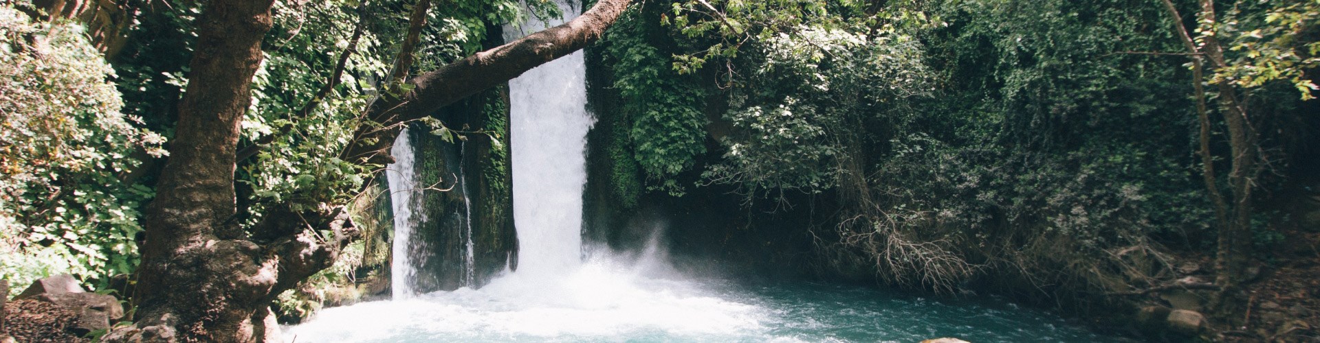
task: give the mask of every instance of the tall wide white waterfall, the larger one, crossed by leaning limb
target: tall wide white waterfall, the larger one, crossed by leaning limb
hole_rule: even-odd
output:
[[[560,3],[564,20],[578,11]],[[529,22],[525,32],[562,21]],[[511,33],[520,30],[511,29]],[[582,261],[582,187],[586,185],[586,112],[582,51],[557,58],[510,82],[513,222],[517,273],[554,276]]]

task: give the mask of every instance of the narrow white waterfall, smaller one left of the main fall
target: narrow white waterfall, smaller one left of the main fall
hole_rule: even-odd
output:
[[[389,148],[389,154],[395,162],[385,169],[385,179],[389,182],[389,202],[395,214],[395,241],[391,247],[393,259],[389,263],[389,282],[395,298],[413,296],[412,278],[417,274],[416,266],[408,255],[408,244],[412,240],[412,230],[420,218],[413,218],[413,193],[418,193],[414,185],[416,174],[413,169],[413,148],[408,139],[408,129],[399,132],[399,139]],[[417,214],[420,215],[420,214]]]

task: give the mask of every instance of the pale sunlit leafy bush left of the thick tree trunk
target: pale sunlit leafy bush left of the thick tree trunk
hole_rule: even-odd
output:
[[[120,112],[114,70],[81,25],[33,24],[5,4],[0,36],[0,278],[131,272],[152,191],[129,174],[165,139]]]

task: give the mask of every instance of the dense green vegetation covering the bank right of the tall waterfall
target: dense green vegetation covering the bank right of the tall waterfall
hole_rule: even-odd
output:
[[[614,194],[809,202],[826,276],[1072,306],[1218,248],[1230,288],[1313,182],[1320,5],[1203,4],[649,3],[605,44]]]

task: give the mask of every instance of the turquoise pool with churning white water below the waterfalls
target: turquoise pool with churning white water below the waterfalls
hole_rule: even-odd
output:
[[[326,309],[308,342],[1122,342],[998,299],[932,299],[813,282],[739,285],[586,263],[480,289]]]

